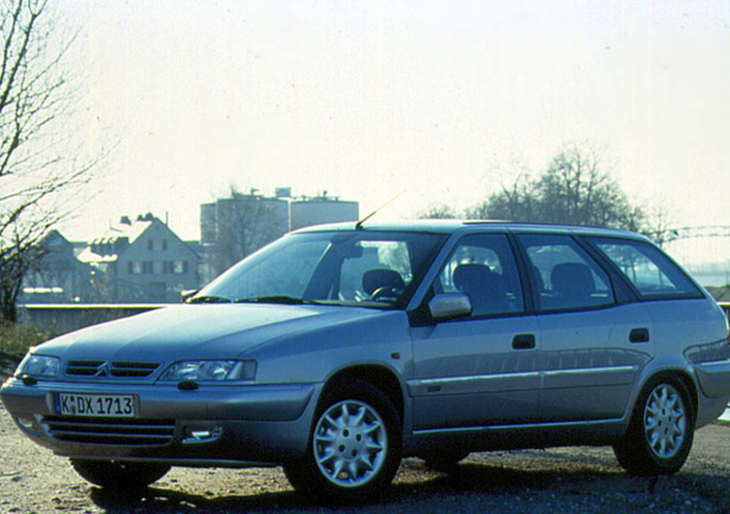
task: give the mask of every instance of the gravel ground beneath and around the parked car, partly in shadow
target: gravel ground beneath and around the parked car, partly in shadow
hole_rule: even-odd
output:
[[[730,425],[699,430],[682,471],[632,478],[610,448],[473,454],[451,474],[405,459],[386,496],[328,506],[295,494],[281,469],[172,471],[141,494],[115,496],[78,478],[61,457],[21,436],[0,406],[0,512],[177,513],[726,513],[730,514]]]

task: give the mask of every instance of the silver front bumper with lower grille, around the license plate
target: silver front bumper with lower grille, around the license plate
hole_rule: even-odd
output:
[[[173,466],[276,465],[307,449],[321,385],[99,385],[10,378],[0,397],[17,427],[57,455]],[[134,396],[134,418],[58,416],[59,393]]]

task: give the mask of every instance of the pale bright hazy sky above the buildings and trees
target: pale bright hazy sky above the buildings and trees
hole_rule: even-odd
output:
[[[631,201],[730,225],[726,0],[64,0],[87,151],[61,231],[151,211],[200,237],[232,185],[462,210],[600,149]]]

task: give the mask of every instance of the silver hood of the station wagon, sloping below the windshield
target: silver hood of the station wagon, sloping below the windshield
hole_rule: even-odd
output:
[[[176,305],[62,335],[42,344],[37,353],[66,361],[233,358],[274,338],[381,314],[385,312],[329,305]]]

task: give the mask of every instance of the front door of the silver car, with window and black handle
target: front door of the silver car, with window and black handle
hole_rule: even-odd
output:
[[[471,315],[412,329],[414,429],[524,424],[537,420],[537,320],[526,314],[505,234],[464,236],[432,285],[464,293]]]

